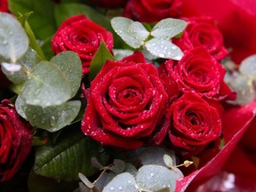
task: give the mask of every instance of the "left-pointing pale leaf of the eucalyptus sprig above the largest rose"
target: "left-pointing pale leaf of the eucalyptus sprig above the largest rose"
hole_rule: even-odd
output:
[[[148,30],[140,22],[128,18],[115,17],[111,20],[111,25],[116,34],[135,49],[140,48],[149,36]]]

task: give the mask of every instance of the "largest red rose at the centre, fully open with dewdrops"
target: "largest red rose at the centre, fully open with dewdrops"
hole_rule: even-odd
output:
[[[167,94],[141,52],[108,62],[86,92],[82,131],[102,145],[140,148],[164,115]]]

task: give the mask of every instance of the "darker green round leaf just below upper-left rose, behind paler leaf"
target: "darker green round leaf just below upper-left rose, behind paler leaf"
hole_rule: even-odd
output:
[[[60,67],[71,84],[71,97],[76,95],[82,79],[82,63],[76,52],[60,52],[50,60]]]

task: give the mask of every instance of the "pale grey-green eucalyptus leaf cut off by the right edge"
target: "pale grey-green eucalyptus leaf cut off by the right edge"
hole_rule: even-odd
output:
[[[244,76],[250,76],[253,80],[256,80],[256,54],[243,60],[239,67],[239,71]]]

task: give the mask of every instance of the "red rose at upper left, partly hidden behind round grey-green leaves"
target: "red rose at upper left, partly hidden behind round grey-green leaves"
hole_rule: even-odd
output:
[[[111,51],[114,44],[111,32],[80,14],[64,20],[60,25],[52,37],[52,52],[76,52],[82,60],[83,74],[87,74],[101,40]]]

